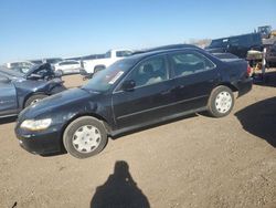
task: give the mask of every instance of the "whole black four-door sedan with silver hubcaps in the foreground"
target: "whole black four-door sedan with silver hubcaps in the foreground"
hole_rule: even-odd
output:
[[[222,61],[189,46],[144,52],[97,73],[86,85],[59,93],[24,110],[15,133],[34,154],[65,149],[93,156],[123,132],[208,111],[230,114],[233,92],[252,89],[247,63]]]

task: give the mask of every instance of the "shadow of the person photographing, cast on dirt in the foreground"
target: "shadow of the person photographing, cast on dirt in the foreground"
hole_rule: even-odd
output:
[[[96,188],[91,208],[149,208],[148,198],[139,189],[126,162],[116,162],[114,173]]]

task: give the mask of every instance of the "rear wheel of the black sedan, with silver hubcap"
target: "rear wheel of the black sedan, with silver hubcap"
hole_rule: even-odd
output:
[[[227,86],[215,87],[208,103],[208,112],[213,117],[224,117],[229,115],[234,106],[234,94]]]

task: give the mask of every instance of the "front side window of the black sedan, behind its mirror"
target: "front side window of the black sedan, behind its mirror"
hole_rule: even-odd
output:
[[[139,64],[128,75],[127,80],[132,80],[137,86],[155,84],[168,80],[166,60],[163,56],[151,58]]]

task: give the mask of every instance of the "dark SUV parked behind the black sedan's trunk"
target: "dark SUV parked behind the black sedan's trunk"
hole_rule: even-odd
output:
[[[263,50],[261,33],[250,33],[236,37],[212,40],[205,48],[211,53],[232,53],[241,59],[245,59],[250,50]]]

